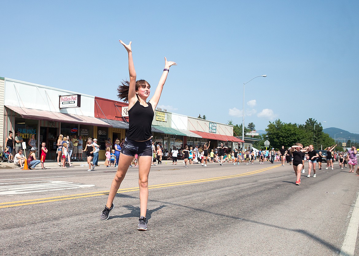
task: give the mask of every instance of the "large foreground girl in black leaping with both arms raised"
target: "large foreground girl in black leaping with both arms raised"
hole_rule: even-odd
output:
[[[137,154],[140,187],[140,218],[137,230],[145,231],[147,230],[148,175],[153,157],[151,124],[155,108],[157,107],[164,83],[168,76],[169,68],[177,64],[173,61],[167,61],[166,57],[164,58],[162,76],[153,97],[150,101],[147,101],[151,86],[145,80],[136,81],[136,71],[132,59],[132,42],[125,44],[120,40],[120,43],[125,47],[128,53],[130,81],[122,82],[117,89],[117,96],[123,101],[129,102],[129,130],[126,133],[125,143],[121,149],[117,172],[115,178],[112,180],[107,203],[100,218],[103,221],[108,219],[109,213],[114,207],[113,199],[115,198],[117,190],[125,178],[135,154]]]

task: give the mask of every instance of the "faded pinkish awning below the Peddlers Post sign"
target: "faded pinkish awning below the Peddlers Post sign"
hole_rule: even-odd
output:
[[[5,107],[8,107],[11,110],[19,113],[19,115],[25,119],[49,120],[49,121],[66,122],[72,124],[87,124],[87,125],[96,125],[103,127],[112,127],[112,125],[107,124],[101,119],[91,116],[70,115],[67,113],[36,110],[36,109],[24,108],[24,107],[13,107],[13,106],[5,106]]]

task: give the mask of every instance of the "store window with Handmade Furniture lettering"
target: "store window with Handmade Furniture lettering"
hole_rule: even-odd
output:
[[[26,143],[27,149],[31,149],[32,147],[29,145],[29,140],[31,139],[32,135],[34,135],[34,139],[36,140],[36,147],[38,148],[38,122],[38,120],[15,117],[15,131],[13,131],[14,138],[17,135],[17,131],[20,131],[20,136]]]

